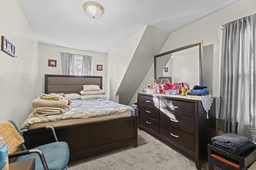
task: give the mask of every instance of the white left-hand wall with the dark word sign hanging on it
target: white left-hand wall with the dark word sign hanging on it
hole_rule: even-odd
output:
[[[0,120],[18,127],[37,95],[38,42],[16,0],[0,0],[0,34],[16,46],[14,58],[0,51]]]

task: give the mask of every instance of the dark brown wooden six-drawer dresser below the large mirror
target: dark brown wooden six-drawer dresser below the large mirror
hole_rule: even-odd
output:
[[[138,93],[139,129],[195,160],[200,170],[216,136],[215,99],[207,113],[201,100]]]

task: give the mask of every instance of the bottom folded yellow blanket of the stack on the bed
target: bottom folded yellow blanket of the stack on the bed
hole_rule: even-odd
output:
[[[37,107],[33,110],[35,116],[61,115],[65,109],[58,107]]]

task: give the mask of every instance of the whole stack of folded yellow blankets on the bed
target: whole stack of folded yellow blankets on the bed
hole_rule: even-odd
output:
[[[41,98],[32,101],[32,113],[35,116],[60,115],[65,113],[68,104],[68,99],[59,94],[42,94]]]

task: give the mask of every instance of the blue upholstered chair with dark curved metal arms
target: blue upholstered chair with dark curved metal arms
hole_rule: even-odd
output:
[[[9,121],[14,125],[20,136],[24,139],[22,133],[24,131],[19,131],[18,127],[13,121]],[[17,157],[16,162],[36,158],[35,169],[36,170],[63,170],[67,169],[67,164],[69,160],[69,148],[66,142],[58,142],[55,131],[52,127],[44,127],[52,129],[56,142],[42,145],[30,150],[26,150],[24,143],[22,147],[24,151],[14,152],[8,154],[9,158]],[[38,128],[36,128],[38,130]],[[7,143],[8,144],[8,143]]]

